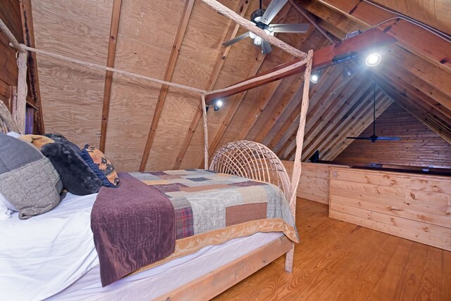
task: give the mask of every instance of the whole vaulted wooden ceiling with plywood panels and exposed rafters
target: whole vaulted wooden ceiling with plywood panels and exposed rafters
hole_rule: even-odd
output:
[[[375,4],[450,34],[446,2]],[[257,0],[221,3],[247,19],[259,6]],[[449,37],[362,0],[288,1],[273,23],[307,23],[304,15],[321,30],[311,26],[307,34],[277,36],[302,51],[321,49],[389,19],[378,28],[397,39],[383,49],[376,68],[340,63],[324,69],[311,85],[304,160],[317,149],[322,160],[333,160],[352,142],[346,136],[357,136],[371,124],[373,83],[376,116],[395,102],[451,143]],[[276,47],[263,55],[250,39],[222,46],[247,30],[197,0],[41,0],[32,2],[32,17],[38,49],[207,91],[293,59]],[[354,75],[346,77],[345,66]],[[121,171],[203,166],[199,95],[39,55],[37,70],[46,132],[64,134],[80,146],[103,144]],[[292,160],[303,84],[302,75],[294,75],[231,96],[221,110],[209,110],[211,153],[229,141],[248,139]]]

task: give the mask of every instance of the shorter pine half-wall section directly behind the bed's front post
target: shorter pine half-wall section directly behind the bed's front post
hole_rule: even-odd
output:
[[[294,162],[282,162],[291,178]],[[296,196],[298,198],[328,204],[330,167],[347,168],[342,165],[302,162],[301,179],[299,180],[299,186],[297,186]]]

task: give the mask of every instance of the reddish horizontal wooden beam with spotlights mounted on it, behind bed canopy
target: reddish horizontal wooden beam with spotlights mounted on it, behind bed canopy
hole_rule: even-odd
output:
[[[357,53],[363,53],[364,51],[371,49],[373,47],[385,46],[387,44],[394,43],[395,41],[396,41],[395,38],[388,36],[388,34],[385,34],[385,33],[381,32],[380,30],[376,30],[376,29],[369,30],[368,32],[364,32],[363,34],[359,34],[355,37],[351,37],[350,39],[345,39],[344,41],[341,41],[340,43],[333,44],[333,45],[324,47],[323,49],[319,49],[318,51],[315,51],[314,62],[313,62],[312,68],[318,69],[321,67],[325,67],[327,65],[333,65],[332,59],[335,56],[338,56],[343,53],[348,53],[350,51],[355,51]],[[271,72],[281,70],[283,68],[286,68],[288,65],[299,63],[299,61],[300,61],[300,59],[292,60],[289,63],[279,65],[276,68],[272,68],[271,70],[262,72],[258,75],[255,75],[254,77],[245,79],[242,82],[248,82],[256,77],[261,77],[262,75],[267,75]],[[303,66],[300,66],[299,68],[295,68],[293,70],[289,70],[287,72],[280,73],[277,76],[262,79],[257,82],[252,82],[245,86],[238,87],[237,89],[233,89],[231,91],[228,90],[228,91],[221,91],[216,94],[209,94],[208,96],[206,96],[206,101],[207,101],[207,103],[209,103],[209,102],[211,103],[211,101],[213,101],[215,98],[225,98],[228,96],[232,96],[232,95],[238,94],[242,91],[253,89],[253,88],[259,87],[261,85],[268,84],[270,82],[275,82],[279,79],[283,79],[285,77],[290,77],[299,72],[304,72],[304,70],[305,70],[305,66],[303,65]],[[238,82],[237,84],[240,84],[242,82]]]

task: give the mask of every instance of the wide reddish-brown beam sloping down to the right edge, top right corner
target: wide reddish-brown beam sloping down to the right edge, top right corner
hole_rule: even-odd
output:
[[[329,8],[345,14],[348,18],[372,27],[385,20],[394,18],[378,26],[384,32],[397,39],[397,44],[417,56],[428,60],[433,65],[451,72],[450,42],[437,37],[424,28],[402,20],[398,15],[383,11],[361,0],[316,0]]]

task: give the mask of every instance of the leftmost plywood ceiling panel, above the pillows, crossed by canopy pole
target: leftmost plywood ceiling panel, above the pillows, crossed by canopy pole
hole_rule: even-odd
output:
[[[33,1],[38,49],[105,64],[112,0]],[[84,146],[99,144],[104,74],[37,56],[44,125]]]

